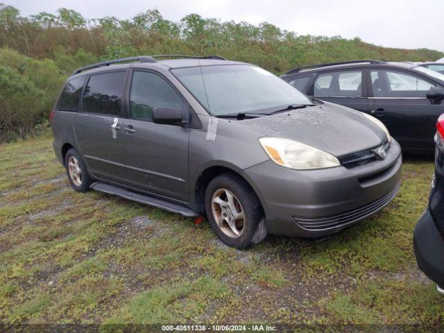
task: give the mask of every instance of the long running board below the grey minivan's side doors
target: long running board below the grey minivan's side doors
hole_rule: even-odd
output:
[[[126,189],[121,189],[120,187],[104,184],[103,182],[94,182],[91,185],[91,188],[95,189],[96,191],[114,194],[116,196],[121,196],[122,198],[137,201],[138,203],[145,203],[146,205],[161,208],[162,210],[167,210],[182,216],[190,217],[200,215],[198,212],[194,212],[194,210],[191,210],[188,207],[178,205],[176,203],[169,203],[168,201],[162,199],[153,198],[152,196],[146,196],[144,194],[138,194]]]

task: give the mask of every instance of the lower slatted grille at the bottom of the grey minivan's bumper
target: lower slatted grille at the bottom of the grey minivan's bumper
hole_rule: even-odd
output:
[[[342,227],[343,225],[352,224],[364,219],[382,209],[382,207],[387,205],[393,198],[395,198],[398,189],[399,185],[382,198],[373,201],[373,203],[368,203],[367,205],[356,208],[355,210],[349,210],[348,212],[342,212],[324,217],[311,218],[293,216],[293,219],[301,228],[311,231],[322,231]]]

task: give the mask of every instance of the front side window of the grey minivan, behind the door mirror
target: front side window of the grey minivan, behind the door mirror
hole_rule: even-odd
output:
[[[182,110],[184,102],[160,76],[148,71],[135,71],[131,81],[130,118],[153,120],[153,108],[175,106]]]

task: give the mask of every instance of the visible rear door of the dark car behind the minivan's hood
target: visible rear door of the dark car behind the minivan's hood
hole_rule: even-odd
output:
[[[361,69],[328,71],[318,74],[310,95],[321,101],[336,103],[362,112],[368,112],[366,81]]]

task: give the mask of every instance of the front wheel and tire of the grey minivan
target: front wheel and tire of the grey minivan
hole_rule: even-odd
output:
[[[262,205],[248,183],[235,173],[223,173],[208,184],[205,212],[214,232],[228,246],[249,248],[266,237]]]

